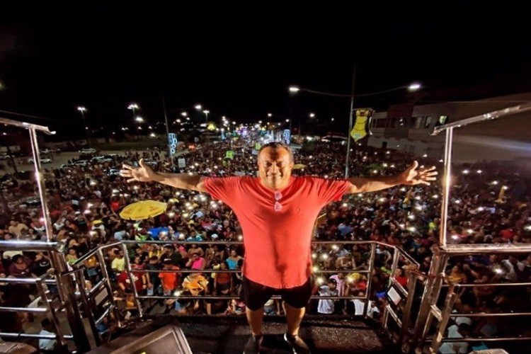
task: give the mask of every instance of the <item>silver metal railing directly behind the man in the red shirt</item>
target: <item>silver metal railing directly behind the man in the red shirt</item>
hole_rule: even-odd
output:
[[[128,247],[132,246],[142,246],[146,244],[157,244],[157,245],[166,245],[166,244],[172,244],[174,246],[180,246],[180,245],[190,245],[190,241],[119,241],[115,242],[113,244],[108,244],[105,246],[102,246],[101,248],[95,249],[91,251],[90,253],[87,253],[85,256],[79,258],[76,263],[74,264],[74,268],[77,270],[84,269],[86,271],[86,261],[93,257],[94,255],[98,256],[98,267],[101,271],[101,277],[97,278],[96,284],[93,285],[91,290],[85,291],[85,297],[86,297],[86,303],[91,308],[91,313],[94,314],[93,319],[91,319],[91,322],[94,322],[95,324],[98,324],[99,321],[101,321],[105,316],[109,316],[111,312],[113,312],[116,319],[122,318],[122,315],[118,313],[118,306],[113,299],[112,296],[107,297],[106,295],[101,296],[101,292],[105,291],[106,294],[111,294],[113,291],[113,285],[114,288],[116,288],[115,284],[111,283],[111,277],[110,275],[113,274],[113,270],[108,269],[110,267],[110,262],[105,261],[105,258],[103,256],[103,251],[105,249],[110,248],[118,248],[123,251],[125,254],[125,270],[127,270],[127,276],[129,277],[129,282],[132,285],[130,287],[130,291],[132,291],[132,296],[135,301],[135,309],[136,309],[136,316],[135,318],[142,318],[146,315],[146,309],[147,309],[147,301],[148,299],[195,299],[195,300],[210,300],[210,299],[222,299],[222,300],[230,300],[230,299],[239,299],[238,295],[212,295],[212,294],[205,294],[205,295],[182,295],[181,292],[171,292],[171,295],[141,295],[137,291],[137,288],[133,285],[135,284],[135,279],[133,277],[137,275],[147,274],[150,273],[179,273],[179,274],[189,274],[189,273],[240,273],[241,270],[222,270],[222,269],[178,269],[178,270],[139,270],[139,269],[133,269],[130,258],[127,256],[130,253],[130,249]],[[232,247],[232,246],[241,246],[243,243],[239,241],[232,241],[232,242],[220,242],[220,241],[202,241],[201,244],[217,244],[217,245],[223,245],[224,247]],[[379,254],[386,254],[386,258],[391,257],[392,258],[392,269],[390,270],[389,275],[389,281],[387,287],[385,287],[385,291],[388,292],[392,287],[394,289],[398,289],[401,296],[404,298],[405,305],[401,306],[400,313],[396,311],[396,309],[392,308],[391,306],[387,306],[384,309],[384,326],[386,329],[388,329],[390,332],[393,332],[394,329],[390,326],[387,326],[389,319],[394,319],[395,323],[398,324],[398,330],[396,330],[394,333],[394,340],[403,341],[404,334],[408,331],[410,331],[411,327],[411,304],[413,303],[412,298],[414,294],[414,283],[417,282],[418,278],[418,272],[411,273],[408,289],[404,289],[396,280],[394,280],[394,274],[396,273],[396,270],[398,270],[401,266],[406,265],[408,268],[416,269],[418,268],[418,263],[411,258],[407,253],[404,252],[404,250],[399,249],[396,246],[392,246],[389,244],[385,244],[383,242],[379,241],[314,241],[312,242],[313,245],[316,246],[333,246],[337,244],[343,244],[345,246],[347,245],[359,245],[365,250],[365,254],[367,256],[367,259],[365,261],[365,264],[363,265],[363,268],[350,268],[350,269],[314,269],[314,275],[317,277],[319,275],[325,275],[328,277],[332,274],[338,274],[338,273],[360,273],[365,276],[367,281],[367,288],[363,294],[363,296],[358,295],[343,295],[343,296],[321,296],[321,295],[312,295],[312,300],[319,300],[319,299],[335,299],[335,300],[354,300],[359,299],[363,302],[363,312],[362,316],[367,317],[367,309],[370,306],[370,301],[372,300],[372,288],[373,288],[373,281],[372,281],[372,275],[374,275],[376,268],[380,268],[384,265],[384,260],[378,260]],[[387,251],[387,253],[386,253]],[[78,277],[76,277],[78,278]],[[79,279],[82,279],[79,277]],[[348,281],[348,279],[346,279]],[[412,285],[413,284],[413,285]],[[105,307],[105,311],[98,312],[96,307],[94,306],[94,299],[96,297],[100,296],[101,301],[109,302],[109,305]],[[280,299],[278,296],[273,296],[273,299]],[[122,325],[121,323],[119,324]]]

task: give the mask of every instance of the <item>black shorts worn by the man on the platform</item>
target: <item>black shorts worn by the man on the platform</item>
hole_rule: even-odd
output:
[[[274,287],[268,287],[258,284],[244,277],[241,299],[244,301],[245,306],[255,311],[261,309],[265,302],[272,295],[280,295],[291,307],[301,309],[306,307],[310,296],[312,296],[312,282],[308,278],[308,281],[298,287],[290,287],[289,289],[275,289]]]

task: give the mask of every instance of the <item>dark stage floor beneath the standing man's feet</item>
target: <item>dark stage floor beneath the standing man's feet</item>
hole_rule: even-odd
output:
[[[121,352],[130,343],[147,343],[150,333],[166,327],[178,328],[192,353],[243,353],[249,339],[249,326],[244,316],[158,316],[138,324],[137,329],[91,351],[94,354]],[[282,316],[266,316],[264,319],[263,345],[267,353],[292,353],[283,340],[285,319]],[[300,336],[312,353],[399,353],[377,324],[352,316],[307,316],[302,322]],[[169,341],[171,336],[166,336]],[[178,338],[179,336],[173,336]],[[152,338],[149,339],[152,341]],[[167,343],[159,344],[167,350]],[[176,348],[178,344],[176,343]],[[154,350],[155,348],[151,348]],[[130,348],[132,350],[132,348]],[[127,350],[142,353],[141,348]],[[150,350],[150,351],[152,351]],[[159,350],[156,350],[159,351]],[[146,351],[147,353],[147,351]],[[162,352],[159,352],[162,353]],[[177,352],[176,352],[177,353]]]

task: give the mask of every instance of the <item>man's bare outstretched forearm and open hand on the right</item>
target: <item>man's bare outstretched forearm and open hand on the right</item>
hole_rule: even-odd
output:
[[[418,162],[413,161],[411,166],[396,176],[348,178],[350,189],[347,193],[374,192],[376,190],[396,187],[396,185],[430,185],[431,181],[435,181],[435,176],[437,176],[435,166],[419,169]]]

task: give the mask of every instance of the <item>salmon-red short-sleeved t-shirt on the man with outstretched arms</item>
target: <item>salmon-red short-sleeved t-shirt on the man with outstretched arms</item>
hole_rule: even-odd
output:
[[[312,273],[312,230],[319,211],[341,200],[346,180],[291,177],[279,190],[282,210],[275,211],[275,190],[258,177],[205,178],[212,198],[234,210],[244,232],[246,278],[277,289],[298,287]]]

